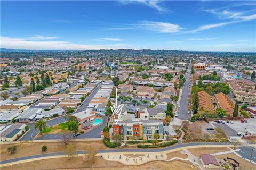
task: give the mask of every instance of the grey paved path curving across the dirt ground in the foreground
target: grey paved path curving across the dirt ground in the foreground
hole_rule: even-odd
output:
[[[177,149],[182,147],[188,147],[188,146],[201,146],[202,147],[207,147],[210,145],[230,145],[229,142],[221,143],[221,142],[214,142],[214,143],[181,143],[179,141],[177,145],[165,147],[165,148],[159,148],[159,149],[106,149],[106,150],[96,150],[97,153],[113,153],[113,152],[164,152],[164,151],[170,151],[172,149]],[[83,154],[84,151],[77,151],[77,154]],[[53,153],[47,153],[47,154],[39,154],[39,155],[31,155],[31,156],[26,156],[26,157],[19,157],[19,158],[14,158],[14,159],[7,159],[7,160],[2,160],[0,162],[1,165],[7,164],[7,163],[14,163],[17,161],[21,160],[28,160],[28,159],[35,159],[35,158],[42,158],[44,157],[49,157],[49,156],[59,156],[59,155],[65,155],[63,152],[53,152]]]

